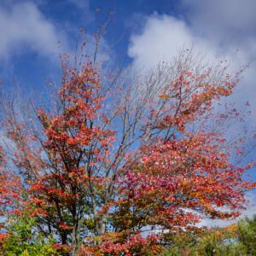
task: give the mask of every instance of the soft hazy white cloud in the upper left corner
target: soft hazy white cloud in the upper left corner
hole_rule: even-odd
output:
[[[32,2],[0,4],[0,58],[32,50],[40,55],[55,57],[58,41],[66,37],[47,20]]]

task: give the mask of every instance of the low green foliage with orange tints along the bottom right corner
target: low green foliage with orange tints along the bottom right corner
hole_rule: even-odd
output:
[[[225,228],[183,232],[170,237],[170,241],[171,248],[161,256],[256,255],[256,215]]]

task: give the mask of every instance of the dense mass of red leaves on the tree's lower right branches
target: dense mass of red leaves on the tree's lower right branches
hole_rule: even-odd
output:
[[[147,219],[148,225],[166,230],[199,222],[201,216],[193,210],[212,218],[236,217],[244,207],[244,189],[255,183],[242,180],[247,168],[232,166],[229,152],[221,149],[224,140],[218,137],[217,133],[200,133],[172,141],[159,139],[143,147],[136,167],[133,163],[133,171],[120,180],[120,216],[124,211],[128,216],[132,208],[132,218],[138,223]]]

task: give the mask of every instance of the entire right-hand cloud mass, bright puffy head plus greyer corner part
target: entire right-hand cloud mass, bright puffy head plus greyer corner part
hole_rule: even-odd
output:
[[[230,68],[239,70],[251,62],[244,73],[233,102],[252,105],[247,125],[256,125],[256,2],[254,0],[181,0],[184,19],[171,15],[144,17],[143,28],[131,34],[128,55],[138,67],[151,67],[172,61],[177,49],[193,48],[207,60],[218,55],[232,60]],[[238,51],[237,51],[238,49]]]

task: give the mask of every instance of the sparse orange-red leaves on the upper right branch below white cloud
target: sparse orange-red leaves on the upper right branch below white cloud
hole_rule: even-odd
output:
[[[211,113],[213,102],[217,102],[220,96],[229,96],[232,93],[235,84],[230,77],[211,83],[210,76],[209,72],[199,75],[183,71],[172,83],[166,84],[164,92],[159,96],[165,100],[165,108],[160,112],[155,109],[155,113],[161,118],[157,119],[154,128],[183,133],[195,119]]]

